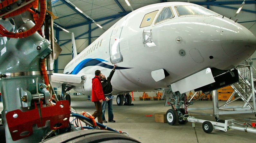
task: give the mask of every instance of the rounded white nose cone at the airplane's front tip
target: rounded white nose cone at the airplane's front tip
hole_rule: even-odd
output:
[[[235,25],[225,25],[220,31],[220,43],[225,53],[230,56],[247,58],[255,52],[256,37],[248,29]],[[242,53],[242,54],[241,54]]]

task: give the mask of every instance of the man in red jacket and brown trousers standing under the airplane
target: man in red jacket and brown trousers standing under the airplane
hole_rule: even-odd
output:
[[[105,101],[102,85],[101,85],[101,72],[100,70],[95,71],[95,77],[92,79],[92,102],[94,102],[96,111],[92,116],[98,119],[98,123],[103,123],[102,121],[102,110],[101,103]]]

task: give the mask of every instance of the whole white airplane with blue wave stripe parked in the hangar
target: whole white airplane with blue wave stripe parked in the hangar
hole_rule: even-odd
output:
[[[130,91],[164,90],[166,103],[175,105],[167,111],[168,123],[185,124],[185,93],[238,82],[232,69],[255,49],[256,38],[248,29],[216,12],[184,2],[151,4],[117,21],[63,74],[54,73],[52,82],[61,83],[65,92],[73,88],[91,95],[95,70],[108,75],[117,64],[111,83],[118,105],[131,103],[124,95]]]

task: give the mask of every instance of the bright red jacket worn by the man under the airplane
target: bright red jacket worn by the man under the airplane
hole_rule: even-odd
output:
[[[95,75],[92,79],[92,102],[97,102],[99,100],[105,101],[105,98],[100,78]]]

